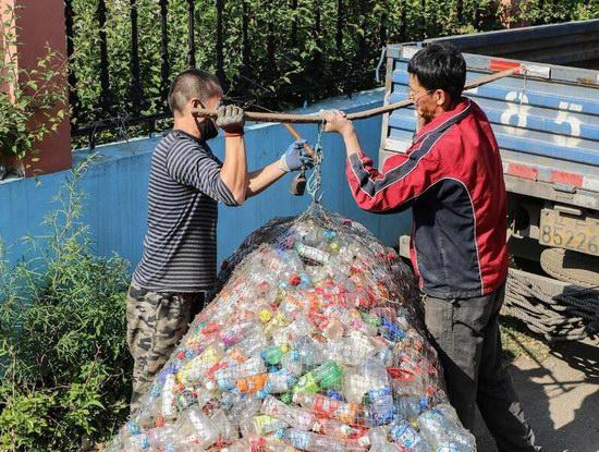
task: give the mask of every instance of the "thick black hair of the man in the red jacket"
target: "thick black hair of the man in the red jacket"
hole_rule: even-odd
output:
[[[442,89],[460,99],[466,84],[466,61],[451,44],[429,44],[407,64],[407,72],[427,89]]]

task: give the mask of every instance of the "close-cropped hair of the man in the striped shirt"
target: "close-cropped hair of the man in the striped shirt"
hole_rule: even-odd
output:
[[[200,69],[188,69],[174,77],[169,89],[169,107],[173,113],[183,112],[185,103],[194,97],[206,102],[213,96],[222,96],[219,80]]]

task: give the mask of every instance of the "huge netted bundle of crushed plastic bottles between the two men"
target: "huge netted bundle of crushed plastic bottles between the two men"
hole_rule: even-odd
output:
[[[223,265],[110,451],[475,451],[442,389],[407,267],[318,205]]]

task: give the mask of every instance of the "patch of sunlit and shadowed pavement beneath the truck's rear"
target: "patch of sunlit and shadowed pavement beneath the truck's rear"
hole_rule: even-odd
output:
[[[509,366],[543,451],[599,451],[598,345],[591,340],[549,344],[542,359],[524,346],[524,354]],[[480,452],[497,451],[480,416],[475,435]]]

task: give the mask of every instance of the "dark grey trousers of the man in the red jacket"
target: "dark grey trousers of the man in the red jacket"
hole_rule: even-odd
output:
[[[443,366],[448,395],[473,429],[476,405],[501,452],[537,451],[512,379],[501,364],[499,310],[505,288],[486,296],[425,295],[425,322]]]

